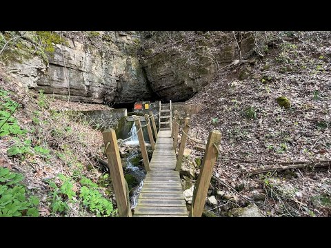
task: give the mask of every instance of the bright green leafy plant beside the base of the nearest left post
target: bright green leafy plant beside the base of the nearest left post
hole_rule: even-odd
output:
[[[79,183],[82,185],[79,197],[83,199],[83,205],[90,211],[97,216],[114,216],[116,214],[110,200],[104,198],[97,190],[99,186],[96,183],[92,183],[89,178],[81,178]]]

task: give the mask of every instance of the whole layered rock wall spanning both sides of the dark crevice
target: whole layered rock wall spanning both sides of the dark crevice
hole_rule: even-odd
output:
[[[219,68],[237,58],[233,37],[215,33],[213,37],[197,36],[193,47],[183,41],[150,52],[141,50],[144,41],[139,32],[68,31],[61,32],[61,43],[51,43],[54,49],[46,53],[48,63],[42,56],[15,52],[5,63],[28,87],[57,97],[70,95],[72,101],[110,105],[185,101],[210,83]],[[241,43],[244,50],[253,46],[250,37]]]

